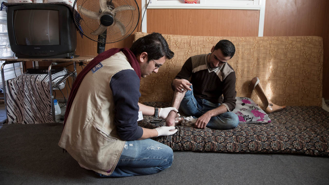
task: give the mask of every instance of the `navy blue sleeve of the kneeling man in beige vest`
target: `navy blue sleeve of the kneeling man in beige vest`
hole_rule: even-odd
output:
[[[131,69],[117,72],[110,81],[115,104],[114,122],[122,140],[137,140],[143,135],[143,129],[137,124],[139,84],[139,77]]]

